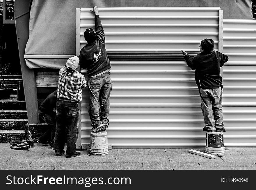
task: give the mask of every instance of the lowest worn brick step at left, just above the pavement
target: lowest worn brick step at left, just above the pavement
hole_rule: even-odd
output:
[[[24,130],[0,130],[0,142],[22,142],[26,140]]]

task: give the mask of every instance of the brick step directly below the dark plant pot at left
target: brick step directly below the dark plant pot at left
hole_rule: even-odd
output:
[[[17,95],[11,95],[10,98],[0,99],[1,110],[26,110],[26,102],[17,100]]]

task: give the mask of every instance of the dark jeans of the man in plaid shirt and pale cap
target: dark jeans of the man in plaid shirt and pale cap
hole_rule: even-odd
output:
[[[79,121],[78,103],[65,100],[56,103],[56,132],[54,139],[54,149],[56,153],[61,153],[65,146],[65,133],[67,131],[66,154],[72,155],[76,152],[76,142]]]

